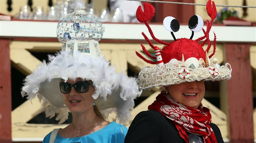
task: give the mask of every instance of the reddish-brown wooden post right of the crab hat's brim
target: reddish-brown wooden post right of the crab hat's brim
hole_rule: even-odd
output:
[[[250,45],[226,43],[225,47],[226,61],[232,66],[232,78],[227,81],[230,143],[253,143]]]

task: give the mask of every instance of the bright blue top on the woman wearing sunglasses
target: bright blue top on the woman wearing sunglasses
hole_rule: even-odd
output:
[[[51,134],[52,132],[44,137],[43,143],[49,143]],[[111,122],[104,128],[83,137],[63,138],[58,133],[54,143],[124,143],[126,134],[125,126]]]

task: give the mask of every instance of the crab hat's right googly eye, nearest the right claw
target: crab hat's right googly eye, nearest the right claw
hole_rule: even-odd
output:
[[[200,32],[204,26],[204,21],[199,15],[193,15],[189,19],[189,29],[193,32]]]

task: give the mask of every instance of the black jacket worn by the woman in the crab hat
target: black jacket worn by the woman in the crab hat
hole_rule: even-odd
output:
[[[218,143],[224,143],[217,125],[211,128]],[[140,112],[132,121],[124,143],[185,143],[174,124],[158,111]]]

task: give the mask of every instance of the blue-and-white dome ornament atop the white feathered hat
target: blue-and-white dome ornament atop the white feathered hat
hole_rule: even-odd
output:
[[[76,4],[84,5],[84,4]],[[62,50],[100,56],[99,43],[104,27],[95,15],[85,12],[82,6],[65,15],[57,25],[57,38],[63,43]]]

